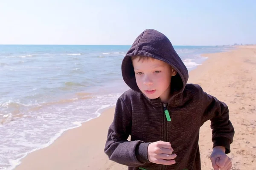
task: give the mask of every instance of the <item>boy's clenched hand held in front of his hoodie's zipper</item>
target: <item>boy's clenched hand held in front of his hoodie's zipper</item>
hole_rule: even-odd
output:
[[[157,141],[148,145],[148,160],[155,164],[175,164],[176,154],[172,154],[170,142]]]

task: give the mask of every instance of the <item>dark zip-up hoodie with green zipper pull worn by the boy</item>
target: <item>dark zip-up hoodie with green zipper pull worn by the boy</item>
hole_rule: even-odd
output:
[[[177,75],[172,77],[168,102],[149,99],[140,91],[132,56],[153,57],[175,68]],[[230,153],[234,128],[227,105],[205,93],[199,85],[187,84],[186,66],[165,35],[152,29],[143,31],[122,61],[122,77],[131,89],[116,102],[104,150],[110,160],[128,165],[129,170],[201,170],[199,130],[207,120],[211,121],[213,147],[224,146],[226,153]],[[171,121],[164,112],[166,109]],[[129,135],[131,141],[127,140]],[[148,144],[160,140],[172,144],[173,153],[177,154],[175,164],[148,161]]]

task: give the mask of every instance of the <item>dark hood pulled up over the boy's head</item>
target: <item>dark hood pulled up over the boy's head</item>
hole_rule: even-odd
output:
[[[132,90],[142,93],[136,83],[132,56],[152,57],[172,65],[177,74],[171,80],[171,98],[183,92],[189,78],[188,70],[164,34],[154,29],[146,29],[136,38],[122,60],[122,77],[125,83]]]

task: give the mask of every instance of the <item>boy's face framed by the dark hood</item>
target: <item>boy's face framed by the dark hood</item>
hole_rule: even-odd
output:
[[[170,97],[171,78],[177,74],[169,64],[157,59],[132,60],[135,78],[140,91],[149,99],[160,97],[166,102]]]

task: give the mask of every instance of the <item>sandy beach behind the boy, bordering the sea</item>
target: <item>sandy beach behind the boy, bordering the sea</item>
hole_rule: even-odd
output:
[[[202,54],[209,57],[189,72],[189,83],[201,85],[208,94],[229,106],[235,128],[231,153],[232,170],[256,168],[256,45],[237,46],[228,52]],[[96,119],[68,130],[53,144],[30,153],[15,170],[126,170],[108,160],[104,153],[108,127],[114,107]],[[202,170],[211,170],[210,122],[201,127],[200,151]]]

